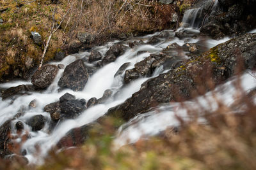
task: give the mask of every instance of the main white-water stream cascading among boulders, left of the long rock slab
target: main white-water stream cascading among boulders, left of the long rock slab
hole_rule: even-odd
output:
[[[173,34],[173,31],[169,32],[170,34]],[[152,36],[155,36],[159,33],[160,32],[156,32],[155,34],[147,35],[141,38],[129,39],[128,41],[124,41],[122,43],[128,46],[129,42],[140,39],[142,39],[144,42],[147,42],[148,39],[152,38]],[[198,41],[198,39],[189,39],[188,42],[196,43],[196,41]],[[75,127],[81,127],[82,125],[89,124],[97,120],[97,118],[104,115],[109,108],[116,106],[120,103],[123,103],[125,99],[131,97],[134,92],[140,90],[141,83],[148,80],[148,78],[140,78],[138,80],[132,81],[131,83],[129,83],[129,85],[122,87],[122,79],[124,73],[114,78],[116,71],[119,69],[120,66],[122,66],[122,64],[124,64],[125,62],[131,62],[131,65],[127,67],[127,69],[131,69],[132,67],[134,67],[134,64],[148,57],[150,53],[159,53],[161,52],[161,50],[166,48],[166,46],[175,42],[179,45],[184,45],[185,43],[184,40],[178,38],[166,38],[161,39],[161,42],[154,46],[145,44],[132,49],[128,48],[124,55],[118,57],[118,59],[116,59],[115,62],[112,62],[102,67],[96,73],[94,73],[93,76],[91,76],[88,82],[86,83],[84,90],[81,92],[73,92],[72,90],[68,89],[58,92],[58,80],[60,79],[61,74],[63,73],[63,69],[60,69],[54,82],[47,90],[43,92],[33,92],[31,95],[19,96],[14,101],[12,101],[11,99],[1,101],[0,125],[2,125],[6,120],[13,118],[16,115],[16,113],[22,110],[24,112],[24,115],[12,121],[13,136],[18,136],[14,128],[15,123],[18,121],[23,122],[25,125],[23,134],[29,133],[29,136],[31,138],[29,138],[24,143],[21,143],[20,137],[22,135],[20,135],[15,141],[22,145],[22,149],[26,150],[26,157],[29,159],[29,162],[31,164],[42,164],[44,162],[44,157],[47,156],[47,152],[49,152],[49,150],[53,146],[55,146],[56,143],[58,143],[58,141],[63,136],[65,136],[65,134],[68,131]],[[95,50],[99,50],[99,52],[104,54],[109,49],[109,46],[113,45],[113,43],[118,43],[118,41],[110,42],[104,46],[97,46],[95,47]],[[137,53],[140,51],[144,52],[140,55],[137,55]],[[65,59],[63,59],[61,62],[52,62],[51,64],[64,64],[65,66],[67,66],[74,60],[81,59],[83,57],[88,57],[88,55],[90,55],[89,52],[76,53],[74,55],[69,55],[65,57]],[[93,64],[85,64],[86,66],[93,66]],[[157,76],[158,74],[163,73],[163,71],[163,67],[159,67],[156,69],[152,76]],[[0,88],[7,89],[9,87],[21,84],[30,84],[30,82],[12,81],[1,84]],[[84,98],[87,101],[91,97],[97,97],[99,99],[100,97],[102,97],[106,89],[113,90],[113,95],[115,94],[115,92],[119,92],[115,95],[115,97],[110,97],[105,103],[97,104],[96,106],[89,108],[88,110],[81,113],[79,117],[75,118],[74,120],[66,120],[61,124],[57,125],[52,132],[49,132],[48,128],[51,117],[49,113],[44,112],[43,109],[45,105],[58,101],[59,98],[63,96],[63,94],[65,94],[66,92],[73,94],[78,99]],[[29,108],[29,103],[34,99],[36,99],[36,108]],[[38,132],[32,132],[31,127],[29,127],[29,125],[26,125],[26,121],[35,115],[43,115],[48,120],[44,129]],[[37,145],[36,148],[35,145]],[[40,152],[38,152],[38,148]]]

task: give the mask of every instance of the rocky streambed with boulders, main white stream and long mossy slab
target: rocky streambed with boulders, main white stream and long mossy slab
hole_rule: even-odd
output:
[[[218,41],[201,33],[182,27],[112,41],[45,64],[31,81],[1,84],[1,157],[40,164],[54,146],[83,143],[106,117],[131,121],[255,69],[255,31]]]

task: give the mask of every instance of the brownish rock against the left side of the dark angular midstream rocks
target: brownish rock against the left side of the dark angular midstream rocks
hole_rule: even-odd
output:
[[[60,120],[61,110],[60,110],[60,102],[54,102],[47,104],[44,107],[44,111],[50,113],[52,121]]]

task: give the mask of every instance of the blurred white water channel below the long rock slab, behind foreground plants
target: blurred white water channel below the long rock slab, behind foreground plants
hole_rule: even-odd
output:
[[[250,71],[250,74],[244,73],[241,76],[241,87],[244,92],[250,92],[251,89],[256,87],[256,79],[252,76],[255,73],[255,71]],[[232,80],[217,87],[212,92],[208,92],[192,101],[186,101],[182,104],[163,104],[154,111],[132,118],[118,129],[115,138],[116,148],[128,143],[135,143],[141,138],[159,134],[168,127],[179,126],[180,122],[177,120],[177,116],[185,121],[189,120],[189,110],[196,113],[204,113],[207,110],[211,113],[218,109],[218,102],[223,103],[224,106],[231,106],[237,99],[237,88],[234,86],[236,80],[236,77],[232,78]],[[198,122],[205,121],[199,118]]]

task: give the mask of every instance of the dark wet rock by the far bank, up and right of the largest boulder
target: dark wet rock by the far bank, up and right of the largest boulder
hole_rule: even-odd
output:
[[[108,52],[106,52],[105,57],[102,59],[103,64],[108,64],[110,62],[114,62],[117,57],[123,55],[127,46],[122,44],[116,44],[109,48]]]

